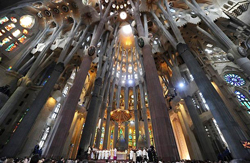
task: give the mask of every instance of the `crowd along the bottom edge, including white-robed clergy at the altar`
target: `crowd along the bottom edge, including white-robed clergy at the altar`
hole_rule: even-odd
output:
[[[59,160],[50,158],[42,158],[41,153],[42,150],[39,148],[39,146],[35,146],[32,157],[28,158],[1,158],[0,163],[85,163],[85,162],[109,162],[109,163],[163,163],[161,159],[157,158],[156,151],[154,149],[154,146],[150,146],[150,148],[146,149],[130,149],[129,151],[125,150],[125,152],[122,152],[122,155],[124,157],[118,158],[117,155],[117,149],[110,149],[110,150],[98,150],[93,149],[91,147],[88,148],[86,151],[87,153],[87,160],[80,161],[79,159],[67,159],[65,160],[63,157]],[[121,152],[120,152],[121,154]],[[117,157],[118,156],[118,157]],[[200,161],[200,160],[180,160],[180,161],[174,161],[174,162],[168,162],[168,163],[229,163],[230,160],[232,160],[232,156],[228,149],[226,149],[223,153],[218,155],[217,161]],[[230,162],[234,163],[234,162]],[[249,163],[245,162],[244,160],[240,161],[238,160],[237,163]]]

